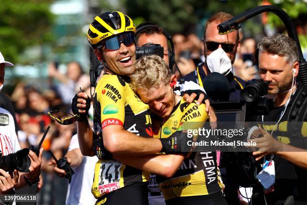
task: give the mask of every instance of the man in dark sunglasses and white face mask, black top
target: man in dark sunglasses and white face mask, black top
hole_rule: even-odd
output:
[[[245,86],[245,81],[232,73],[232,64],[237,50],[240,50],[239,31],[220,35],[217,29],[217,25],[232,18],[231,14],[219,12],[207,21],[203,39],[206,61],[198,64],[196,70],[187,74],[184,79],[203,86],[203,79],[210,72],[221,73],[227,77],[231,86],[229,100],[240,100],[240,91]]]

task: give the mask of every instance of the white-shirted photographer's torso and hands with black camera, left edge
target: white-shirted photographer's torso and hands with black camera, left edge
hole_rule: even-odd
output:
[[[29,149],[21,150],[13,116],[2,108],[0,108],[0,142],[3,155],[0,157],[0,194],[15,194],[14,188],[38,183],[43,149],[40,150],[39,156]],[[10,204],[12,202],[1,201],[1,203]]]

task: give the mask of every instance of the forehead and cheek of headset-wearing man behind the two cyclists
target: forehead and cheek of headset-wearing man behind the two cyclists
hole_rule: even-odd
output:
[[[169,50],[168,50],[168,40],[162,34],[152,34],[146,35],[141,34],[136,42],[137,47],[141,47],[147,43],[160,44],[164,49],[163,59],[169,65]]]

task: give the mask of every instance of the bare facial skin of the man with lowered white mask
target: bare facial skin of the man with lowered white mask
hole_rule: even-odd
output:
[[[205,41],[214,41],[217,43],[229,43],[229,44],[236,44],[236,39],[237,39],[237,32],[231,32],[228,33],[227,35],[220,35],[217,29],[217,26],[220,23],[217,22],[211,22],[210,24],[208,24],[207,26],[207,30],[206,30],[206,36],[205,36]],[[228,38],[227,38],[228,36]],[[208,55],[210,55],[213,51],[210,51],[207,49],[206,47],[206,43],[203,44],[204,46],[204,54],[205,57],[207,57]],[[222,48],[221,45],[219,45],[219,48]],[[237,51],[240,50],[240,41],[236,44],[235,48],[233,49],[233,52],[227,53],[228,57],[231,59],[231,63],[234,62],[235,57],[236,57],[236,53]]]

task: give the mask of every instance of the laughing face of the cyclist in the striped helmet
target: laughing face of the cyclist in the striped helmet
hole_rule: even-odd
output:
[[[109,72],[117,75],[130,75],[134,72],[135,67],[135,45],[132,43],[130,46],[120,44],[120,48],[116,51],[102,49],[95,49],[96,56],[108,65],[104,72]],[[128,57],[127,62],[120,62],[120,60]]]

